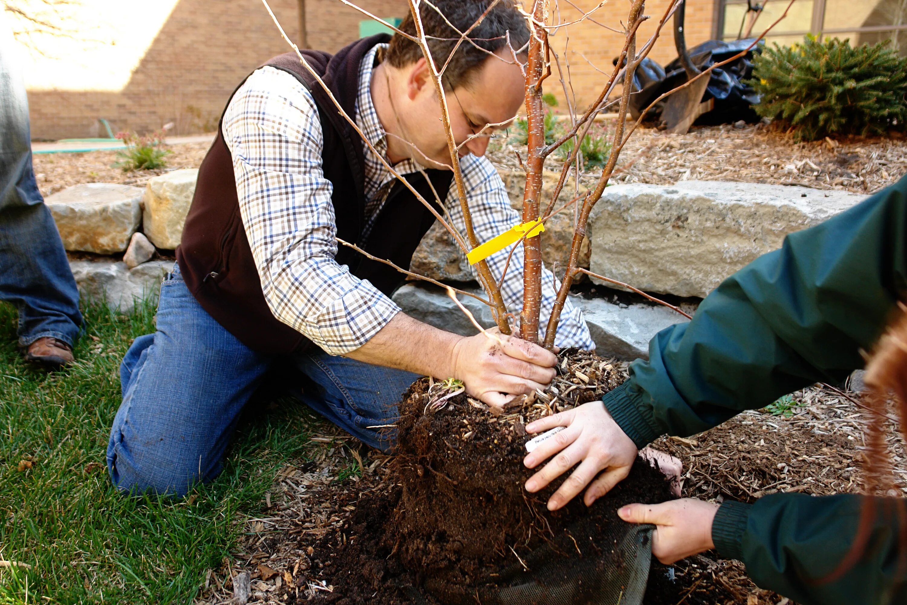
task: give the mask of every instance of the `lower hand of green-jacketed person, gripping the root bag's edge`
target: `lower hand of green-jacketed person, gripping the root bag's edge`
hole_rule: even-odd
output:
[[[652,523],[652,554],[670,565],[674,561],[715,548],[712,522],[718,505],[684,498],[661,504],[628,504],[618,511],[630,523]]]

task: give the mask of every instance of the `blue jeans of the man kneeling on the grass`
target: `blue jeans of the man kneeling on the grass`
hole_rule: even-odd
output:
[[[287,363],[288,362],[288,363]],[[122,360],[122,405],[113,420],[107,465],[124,492],[184,495],[222,468],[239,414],[276,364],[318,414],[386,450],[396,403],[418,376],[320,349],[277,359],[243,345],[190,294],[173,268],[161,285],[157,332],[135,339]]]

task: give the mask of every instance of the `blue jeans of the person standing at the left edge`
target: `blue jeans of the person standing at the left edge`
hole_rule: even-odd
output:
[[[0,300],[19,309],[19,346],[41,337],[72,345],[82,326],[79,290],[32,169],[28,100],[0,32]]]

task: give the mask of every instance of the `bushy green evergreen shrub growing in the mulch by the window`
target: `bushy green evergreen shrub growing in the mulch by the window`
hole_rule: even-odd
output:
[[[754,63],[756,112],[792,127],[797,140],[883,134],[907,121],[907,59],[888,43],[853,48],[846,39],[808,35],[802,44],[766,48]]]

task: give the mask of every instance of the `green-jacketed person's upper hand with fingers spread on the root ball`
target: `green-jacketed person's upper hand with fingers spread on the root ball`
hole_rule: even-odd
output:
[[[587,506],[627,477],[633,461],[636,460],[636,444],[620,430],[600,401],[536,420],[526,426],[526,431],[543,433],[555,426],[567,428],[542,442],[522,461],[528,468],[535,468],[557,454],[526,482],[528,492],[538,492],[562,473],[570,470],[574,464],[581,462],[576,471],[561,484],[561,488],[551,495],[548,501],[549,511],[556,511],[569,503],[573,496],[589,485],[603,469],[608,470],[586,490],[583,502]]]

